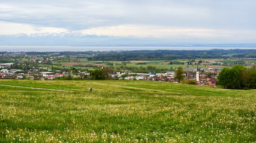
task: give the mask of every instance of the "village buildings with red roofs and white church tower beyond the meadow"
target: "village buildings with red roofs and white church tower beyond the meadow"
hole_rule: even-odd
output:
[[[90,73],[88,71],[76,70],[76,73],[73,73],[72,70],[70,72],[56,70],[56,72],[52,72],[52,69],[47,67],[39,67],[38,69],[29,69],[28,73],[24,73],[22,69],[8,70],[8,68],[13,65],[14,63],[0,64],[0,79],[56,80],[59,79],[59,77],[71,77],[70,79],[74,80],[90,79]],[[40,69],[43,69],[44,71],[39,71]],[[213,68],[188,68],[183,70],[185,71],[184,80],[194,79],[197,81],[197,85],[203,86],[215,86],[215,83],[218,80],[218,74],[221,72],[221,69]],[[167,73],[132,73],[131,71],[123,70],[116,71],[115,73],[109,74],[109,76],[112,77],[112,79],[118,80],[152,80],[159,82],[178,82],[174,79],[174,71],[168,71]]]

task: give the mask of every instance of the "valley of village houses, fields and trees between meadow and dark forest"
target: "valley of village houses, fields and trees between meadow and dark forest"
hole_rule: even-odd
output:
[[[223,67],[236,64],[255,66],[254,58],[230,57],[227,60],[195,60],[183,58],[159,61],[89,61],[94,51],[84,52],[2,52],[0,53],[0,79],[30,80],[91,80],[90,71],[106,70],[108,80],[152,80],[179,82],[175,70],[183,66],[184,80],[196,80],[197,85],[215,86]],[[198,67],[199,66],[199,67]],[[150,68],[149,68],[150,67]]]

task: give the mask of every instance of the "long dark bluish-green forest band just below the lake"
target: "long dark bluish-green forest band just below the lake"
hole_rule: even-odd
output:
[[[230,56],[232,54],[232,56]],[[255,49],[212,49],[212,50],[141,50],[141,51],[107,51],[97,52],[88,60],[127,61],[127,60],[177,60],[196,58],[248,58],[246,55],[256,54]]]

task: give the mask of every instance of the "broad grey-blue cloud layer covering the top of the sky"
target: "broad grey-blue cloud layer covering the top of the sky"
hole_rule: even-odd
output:
[[[0,20],[70,30],[119,24],[255,30],[256,1],[6,1]]]

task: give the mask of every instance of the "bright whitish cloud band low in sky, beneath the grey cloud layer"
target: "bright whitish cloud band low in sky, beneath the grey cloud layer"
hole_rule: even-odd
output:
[[[256,40],[255,30],[224,30],[199,29],[184,27],[150,26],[124,24],[118,26],[94,27],[83,30],[67,30],[59,27],[40,27],[30,24],[0,21],[0,35],[14,36],[118,36],[134,38],[162,38],[162,39],[232,39],[243,41]]]

